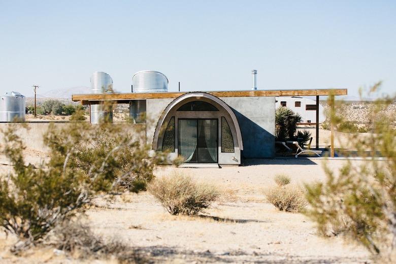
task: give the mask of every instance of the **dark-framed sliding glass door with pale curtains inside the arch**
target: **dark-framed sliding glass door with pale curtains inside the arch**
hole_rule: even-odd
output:
[[[217,162],[217,119],[179,119],[178,123],[179,155],[186,162]]]

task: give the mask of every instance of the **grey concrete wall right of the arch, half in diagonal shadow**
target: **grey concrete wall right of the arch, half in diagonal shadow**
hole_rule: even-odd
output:
[[[221,97],[241,128],[244,158],[275,155],[275,97]]]

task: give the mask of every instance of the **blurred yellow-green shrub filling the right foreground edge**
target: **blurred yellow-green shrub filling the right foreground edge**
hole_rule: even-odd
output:
[[[380,83],[372,87],[375,92]],[[396,97],[379,98],[370,112],[368,137],[352,135],[346,148],[356,149],[362,162],[345,161],[339,171],[324,163],[326,180],[307,185],[310,209],[321,234],[343,233],[371,252],[396,255],[396,129],[387,114]],[[337,126],[344,118],[331,113]],[[375,153],[384,157],[375,158]],[[389,262],[392,262],[390,260]]]

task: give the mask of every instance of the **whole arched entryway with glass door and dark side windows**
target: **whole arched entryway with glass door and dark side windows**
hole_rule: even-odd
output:
[[[191,163],[240,164],[243,145],[233,110],[216,96],[191,92],[163,111],[153,149]]]

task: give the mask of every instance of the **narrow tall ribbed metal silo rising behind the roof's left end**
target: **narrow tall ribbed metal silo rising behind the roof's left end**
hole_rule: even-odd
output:
[[[113,92],[113,79],[104,72],[94,72],[90,78],[91,93],[111,93]],[[91,105],[90,121],[92,124],[103,122],[106,118],[113,121],[113,108],[109,107],[104,111],[103,105]]]

